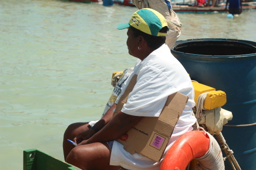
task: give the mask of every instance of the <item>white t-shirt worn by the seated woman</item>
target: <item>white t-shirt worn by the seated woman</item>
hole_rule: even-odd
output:
[[[143,61],[138,60],[126,84],[129,84],[135,74],[138,75],[137,83],[121,110],[126,114],[158,117],[168,95],[180,92],[189,98],[169,140],[165,155],[173,142],[184,133],[191,131],[193,129],[191,126],[196,122],[196,118],[192,115],[192,108],[195,106],[193,85],[186,70],[170,53],[166,44]],[[122,93],[125,87],[122,87]],[[115,103],[118,103],[120,96]],[[130,154],[123,149],[122,144],[114,141],[110,165],[121,165],[133,170],[159,169],[161,162],[162,160],[159,163],[154,162],[138,153]]]

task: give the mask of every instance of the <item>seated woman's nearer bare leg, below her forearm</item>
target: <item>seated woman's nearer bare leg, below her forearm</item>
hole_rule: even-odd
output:
[[[78,145],[71,150],[66,161],[83,170],[117,170],[110,165],[111,149],[106,142]]]

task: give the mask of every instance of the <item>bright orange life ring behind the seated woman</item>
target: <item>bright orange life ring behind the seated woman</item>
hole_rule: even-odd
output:
[[[204,131],[190,131],[178,138],[168,150],[160,170],[184,170],[194,158],[209,150],[209,136]]]

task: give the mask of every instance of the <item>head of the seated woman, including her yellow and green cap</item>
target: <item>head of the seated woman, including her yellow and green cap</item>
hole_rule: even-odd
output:
[[[127,31],[129,53],[140,59],[145,57],[146,53],[152,52],[164,44],[168,31],[163,15],[149,8],[136,11],[129,23],[118,25],[117,28],[119,30],[129,28]],[[147,51],[141,50],[142,42],[146,42],[143,44],[146,44]]]

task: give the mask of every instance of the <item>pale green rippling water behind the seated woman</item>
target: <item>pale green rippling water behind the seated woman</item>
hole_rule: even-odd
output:
[[[0,0],[0,166],[22,169],[23,150],[63,160],[62,135],[95,120],[112,92],[112,72],[132,67],[127,22],[137,9],[57,0]],[[256,41],[256,11],[179,14],[180,40]]]

